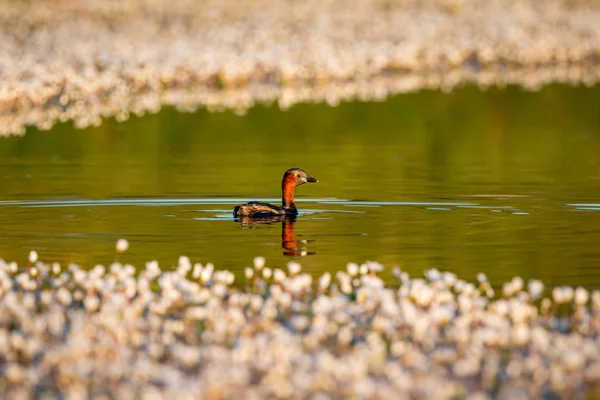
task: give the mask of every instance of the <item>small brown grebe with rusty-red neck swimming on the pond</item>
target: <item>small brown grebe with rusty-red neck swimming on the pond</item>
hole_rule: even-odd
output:
[[[308,176],[304,170],[300,168],[291,168],[283,174],[281,181],[281,202],[282,207],[275,206],[269,203],[260,203],[251,201],[250,203],[240,204],[233,209],[235,218],[272,218],[275,216],[296,216],[298,209],[294,204],[294,190],[296,186],[305,184],[306,182],[318,182],[312,176]]]

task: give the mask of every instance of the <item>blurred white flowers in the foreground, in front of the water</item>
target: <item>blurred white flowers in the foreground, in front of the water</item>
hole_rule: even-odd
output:
[[[120,251],[126,246],[120,247]],[[181,257],[83,270],[0,261],[5,398],[563,398],[600,394],[600,291],[492,287],[375,262],[243,282]],[[240,277],[241,278],[241,277]]]

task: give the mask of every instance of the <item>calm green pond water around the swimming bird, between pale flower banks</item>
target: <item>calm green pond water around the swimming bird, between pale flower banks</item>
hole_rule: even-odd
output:
[[[600,287],[599,99],[466,87],[30,129],[0,139],[0,257],[107,264],[125,237],[123,261],[165,268],[182,254],[237,272],[256,255],[315,273],[373,259]],[[231,210],[278,201],[295,166],[320,182],[298,188],[290,250],[281,223],[241,226]]]

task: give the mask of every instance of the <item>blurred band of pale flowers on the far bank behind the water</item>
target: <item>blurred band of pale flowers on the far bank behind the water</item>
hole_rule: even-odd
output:
[[[586,0],[0,2],[0,135],[164,105],[244,113],[600,80]],[[375,22],[374,22],[375,21]]]

